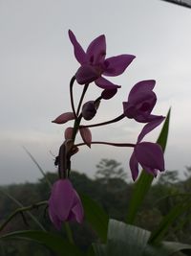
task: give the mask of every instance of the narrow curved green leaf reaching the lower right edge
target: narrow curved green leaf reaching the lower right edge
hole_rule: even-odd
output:
[[[148,243],[157,244],[159,243],[168,229],[168,227],[178,218],[181,214],[185,213],[188,209],[191,208],[191,202],[184,200],[179,204],[175,205],[170,212],[163,217],[160,221],[159,226],[156,230],[151,233]]]

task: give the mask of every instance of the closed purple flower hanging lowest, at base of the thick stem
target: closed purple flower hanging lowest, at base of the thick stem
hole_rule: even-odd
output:
[[[57,229],[63,221],[83,221],[83,206],[69,179],[59,179],[53,184],[49,216]]]

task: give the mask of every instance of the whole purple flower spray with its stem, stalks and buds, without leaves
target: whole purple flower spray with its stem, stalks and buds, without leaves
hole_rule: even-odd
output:
[[[61,227],[62,221],[83,220],[83,207],[79,196],[70,181],[71,157],[79,150],[79,147],[93,144],[102,144],[115,147],[131,147],[132,155],[129,166],[132,178],[138,178],[138,164],[150,175],[158,175],[164,171],[164,158],[161,147],[157,143],[143,141],[146,134],[157,128],[164,120],[163,116],[152,114],[157,103],[157,96],[153,91],[156,81],[138,81],[131,89],[127,101],[123,102],[121,114],[116,118],[99,124],[83,125],[83,120],[90,121],[96,116],[98,106],[102,100],[112,99],[120,85],[105,79],[122,74],[131,64],[134,55],[119,55],[106,58],[105,35],[99,35],[94,39],[87,50],[84,51],[72,31],[69,31],[70,40],[74,46],[74,56],[80,66],[70,82],[71,112],[59,115],[53,123],[65,124],[73,120],[74,126],[65,129],[65,140],[60,146],[55,164],[58,165],[59,179],[53,184],[51,198],[49,200],[49,215],[56,228]],[[82,85],[82,93],[77,105],[74,104],[74,81]],[[89,84],[95,82],[102,90],[95,100],[84,102],[84,96]],[[93,141],[90,128],[109,125],[123,118],[134,119],[138,123],[145,124],[138,135],[137,142],[116,143],[105,141]],[[75,137],[79,131],[82,143],[75,144]]]

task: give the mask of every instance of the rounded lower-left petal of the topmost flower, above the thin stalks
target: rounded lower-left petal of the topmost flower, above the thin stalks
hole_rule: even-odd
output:
[[[75,73],[75,79],[79,84],[90,83],[96,81],[97,78],[99,78],[99,73],[94,66],[89,64],[81,65]]]

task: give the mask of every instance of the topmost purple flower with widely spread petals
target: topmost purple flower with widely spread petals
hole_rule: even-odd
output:
[[[104,89],[114,89],[120,87],[102,77],[116,77],[122,74],[128,65],[135,58],[133,55],[120,55],[117,57],[106,58],[105,35],[99,35],[88,46],[85,52],[76,40],[72,31],[69,30],[69,37],[74,45],[74,56],[81,64],[75,73],[75,79],[79,84],[92,81]]]

